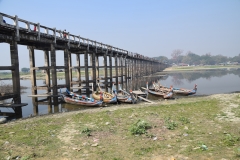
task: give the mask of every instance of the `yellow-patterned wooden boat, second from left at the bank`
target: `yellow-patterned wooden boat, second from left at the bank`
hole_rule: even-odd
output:
[[[111,94],[111,93],[102,91],[99,84],[98,84],[98,87],[99,87],[99,91],[93,91],[92,92],[92,96],[93,96],[94,99],[102,100],[105,103],[117,103],[116,93]],[[93,88],[92,88],[92,90],[93,90]]]

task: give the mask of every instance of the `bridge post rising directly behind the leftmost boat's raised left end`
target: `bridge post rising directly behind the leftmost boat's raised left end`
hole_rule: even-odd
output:
[[[66,47],[64,50],[64,71],[65,71],[65,83],[66,83],[66,88],[68,90],[70,90],[70,78],[69,78],[69,73],[70,73],[70,69],[69,69],[69,55],[71,55],[71,53],[69,52],[68,48]]]

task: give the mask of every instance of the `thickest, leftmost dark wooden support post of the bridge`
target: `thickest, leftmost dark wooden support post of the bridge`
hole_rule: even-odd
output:
[[[15,37],[15,35],[13,35]],[[18,59],[18,46],[17,42],[14,40],[10,43],[10,54],[11,54],[11,66],[14,68],[12,70],[12,84],[13,84],[13,93],[17,94],[17,97],[14,98],[15,104],[21,103],[21,94],[20,94],[20,75],[19,75],[19,59]],[[22,117],[22,108],[15,108],[16,117]]]

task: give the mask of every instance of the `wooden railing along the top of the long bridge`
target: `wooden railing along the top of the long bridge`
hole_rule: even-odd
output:
[[[4,23],[4,18],[12,19],[13,20],[13,25],[9,23]],[[25,27],[22,27],[22,24],[25,24]],[[7,26],[10,28],[14,28],[16,30],[16,36],[19,39],[19,30],[23,30],[26,32],[36,32],[37,34],[37,39],[40,40],[41,36],[53,36],[54,37],[54,43],[56,43],[56,40],[65,40],[68,41],[68,46],[70,47],[70,43],[75,43],[78,44],[78,47],[81,45],[95,47],[96,49],[100,48],[102,50],[106,51],[115,51],[123,56],[129,56],[129,57],[137,57],[140,59],[144,60],[151,60],[151,61],[156,61],[153,58],[149,58],[147,56],[143,56],[137,53],[132,53],[117,47],[113,47],[108,44],[103,44],[101,42],[97,42],[94,40],[90,40],[88,38],[83,38],[80,35],[73,35],[70,34],[69,32],[66,33],[66,38],[63,36],[63,31],[62,30],[57,30],[56,28],[49,28],[44,25],[40,25],[40,23],[34,23],[30,21],[26,21],[24,19],[18,18],[17,15],[15,16],[10,16],[4,13],[0,12],[0,25]],[[34,28],[33,30],[31,28]],[[156,61],[157,62],[157,61]]]

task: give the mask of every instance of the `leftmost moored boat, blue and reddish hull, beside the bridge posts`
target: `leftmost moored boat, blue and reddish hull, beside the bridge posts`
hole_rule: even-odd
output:
[[[66,90],[66,95],[61,94],[62,99],[69,104],[81,106],[102,106],[103,101],[97,101],[93,98],[88,98],[84,95],[75,94]]]

